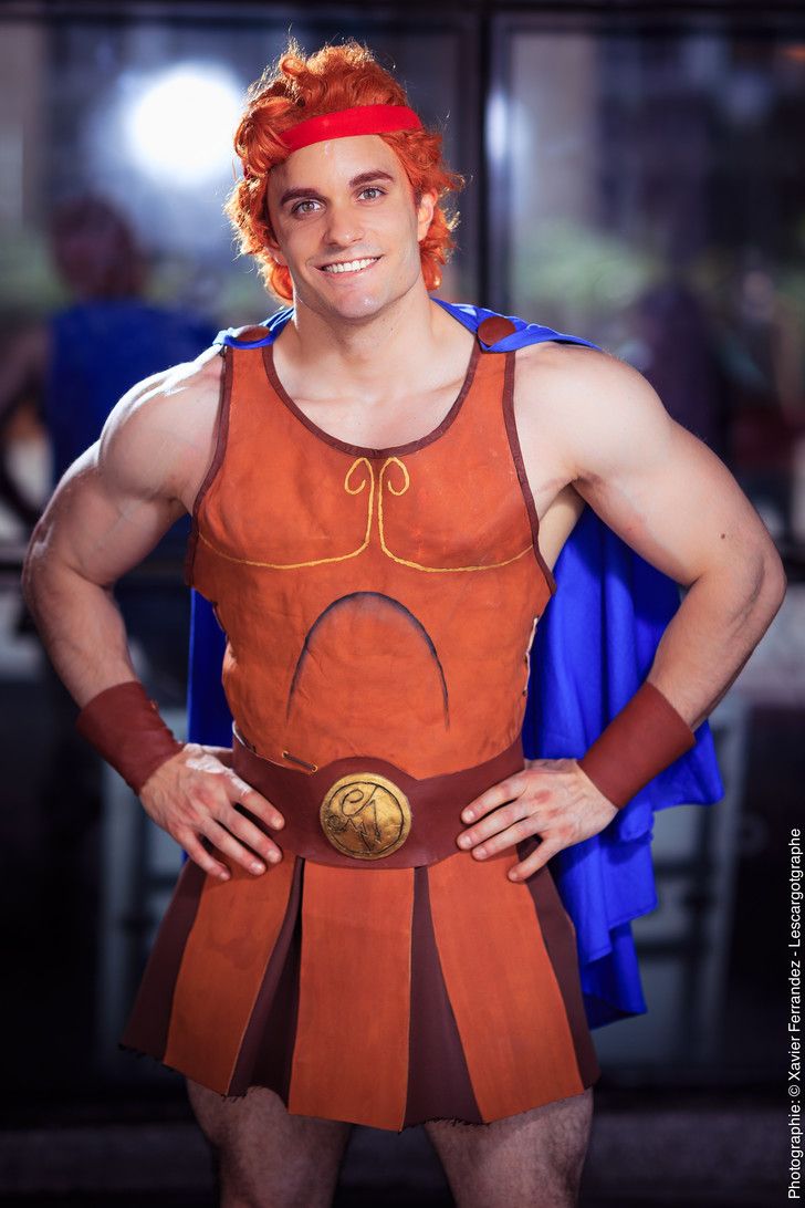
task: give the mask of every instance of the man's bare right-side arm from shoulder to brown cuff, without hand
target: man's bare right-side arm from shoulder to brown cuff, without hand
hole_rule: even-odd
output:
[[[675,423],[629,365],[571,350],[550,395],[550,442],[578,494],[687,594],[648,679],[693,727],[713,709],[780,608],[786,577],[724,464]]]

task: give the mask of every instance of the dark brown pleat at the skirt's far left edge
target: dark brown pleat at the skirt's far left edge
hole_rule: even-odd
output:
[[[205,876],[204,870],[192,860],[187,860],[179,873],[170,906],[157,931],[145,976],[121,1038],[121,1044],[127,1049],[136,1049],[157,1058],[164,1056],[174,987],[185,945],[196,922]]]

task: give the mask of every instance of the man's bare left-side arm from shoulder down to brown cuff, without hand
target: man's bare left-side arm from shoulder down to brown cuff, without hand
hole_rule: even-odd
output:
[[[192,506],[211,458],[216,361],[180,366],[129,391],[64,475],[31,536],[25,599],[80,705],[134,678],[112,586]]]

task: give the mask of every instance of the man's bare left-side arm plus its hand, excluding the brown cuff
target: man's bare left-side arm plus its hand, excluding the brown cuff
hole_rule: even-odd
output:
[[[100,440],[70,467],[31,536],[23,590],[47,652],[80,705],[135,679],[112,586],[185,511],[212,459],[221,361],[205,354],[135,387]],[[101,720],[103,724],[103,720]],[[205,872],[229,870],[204,840],[252,873],[280,849],[234,808],[272,826],[282,815],[229,768],[231,753],[185,744],[140,788],[146,813]]]

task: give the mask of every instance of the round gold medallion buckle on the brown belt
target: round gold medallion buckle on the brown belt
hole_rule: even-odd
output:
[[[402,847],[410,831],[410,803],[402,789],[375,772],[336,780],[319,812],[321,829],[344,855],[381,860]]]

